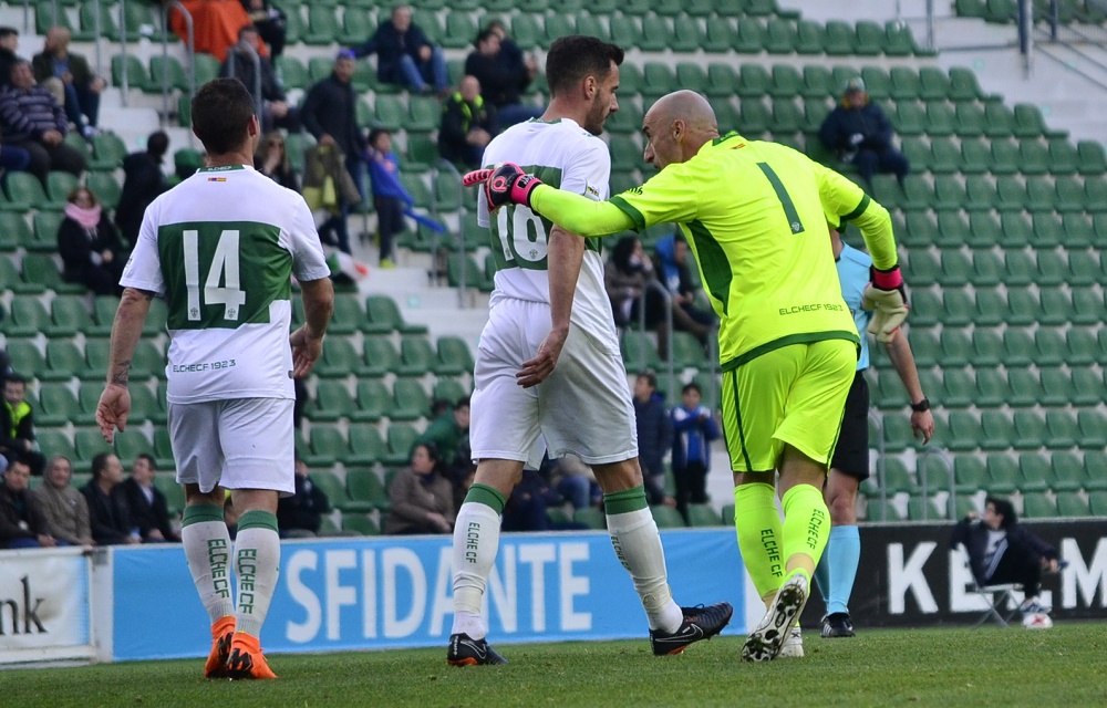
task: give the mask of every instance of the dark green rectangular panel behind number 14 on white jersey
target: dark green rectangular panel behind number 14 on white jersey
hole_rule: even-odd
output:
[[[268,323],[291,298],[292,254],[280,228],[256,221],[190,221],[157,229],[170,330]]]

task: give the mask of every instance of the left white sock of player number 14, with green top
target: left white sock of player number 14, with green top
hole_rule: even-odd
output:
[[[188,572],[193,574],[196,592],[211,624],[235,614],[230,592],[230,534],[223,519],[223,508],[193,504],[185,509],[180,542],[185,546]]]

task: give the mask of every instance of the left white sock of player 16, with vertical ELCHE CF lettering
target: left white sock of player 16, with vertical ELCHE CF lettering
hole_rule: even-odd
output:
[[[466,501],[454,523],[454,626],[451,634],[482,639],[488,629],[480,617],[488,575],[499,552],[500,516],[492,507]]]

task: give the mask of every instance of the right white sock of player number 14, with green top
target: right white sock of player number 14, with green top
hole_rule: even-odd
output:
[[[280,537],[277,517],[268,511],[247,511],[238,520],[235,539],[235,574],[238,575],[236,632],[261,636],[277,589]]]

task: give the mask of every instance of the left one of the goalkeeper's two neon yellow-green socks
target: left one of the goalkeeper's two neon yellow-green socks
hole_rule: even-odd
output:
[[[734,488],[734,530],[746,571],[757,594],[764,597],[780,587],[784,579],[784,549],[780,548],[780,514],[772,485],[739,485]]]

